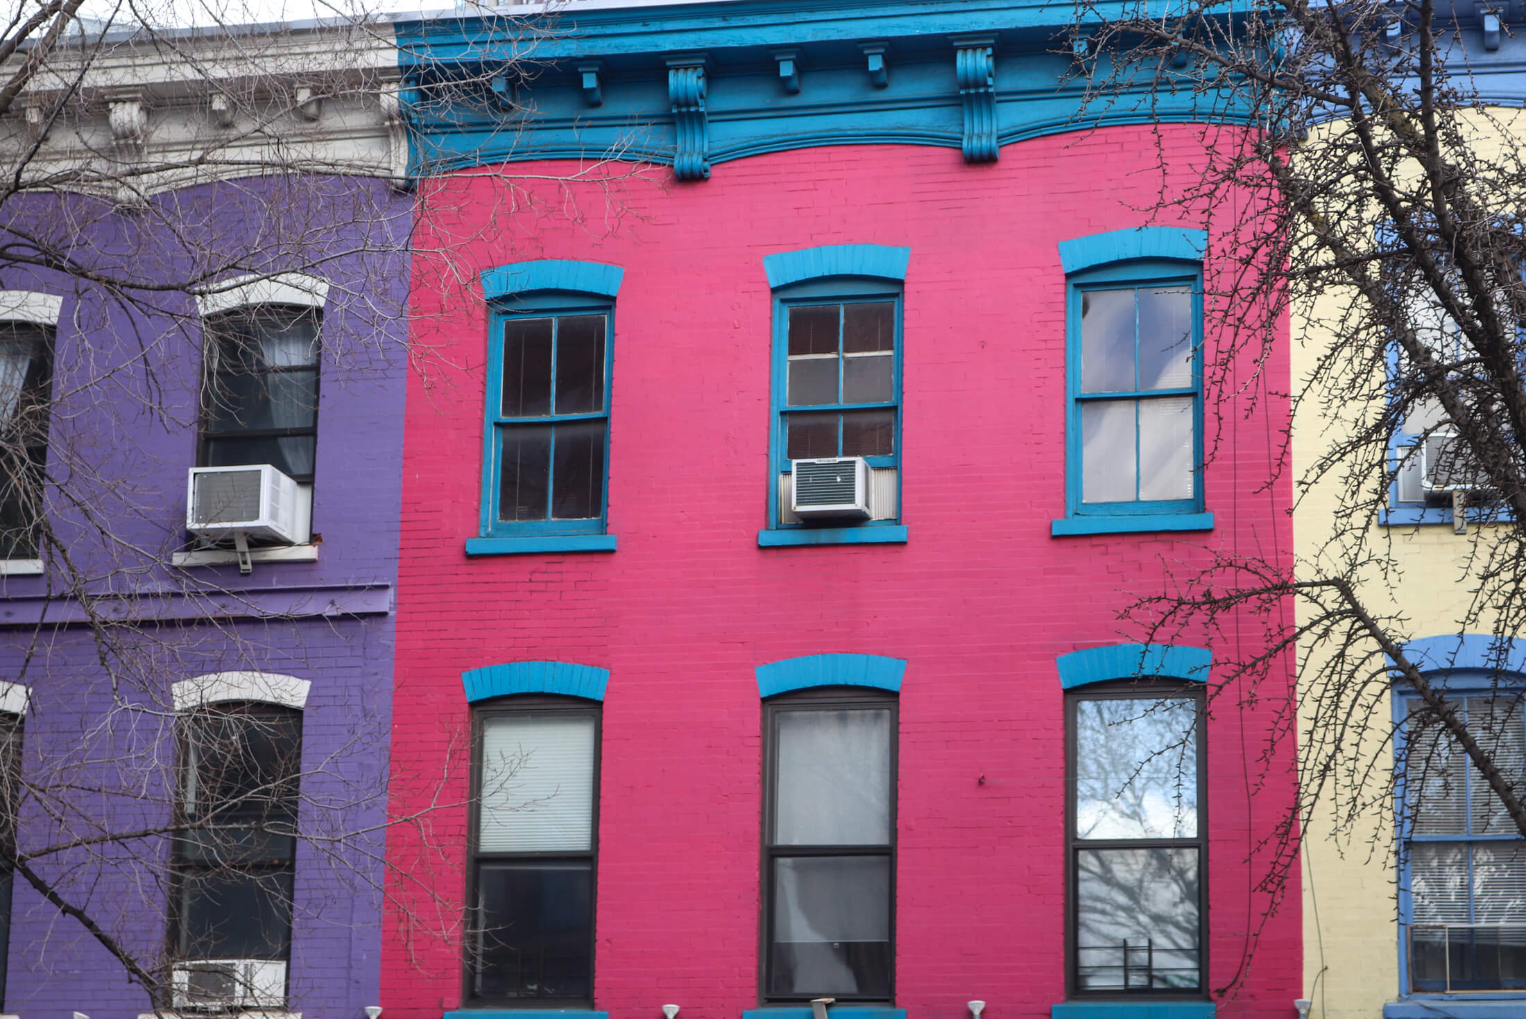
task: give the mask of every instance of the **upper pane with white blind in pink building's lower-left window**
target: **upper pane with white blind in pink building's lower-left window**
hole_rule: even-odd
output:
[[[592,845],[594,718],[482,722],[478,850],[575,853]]]

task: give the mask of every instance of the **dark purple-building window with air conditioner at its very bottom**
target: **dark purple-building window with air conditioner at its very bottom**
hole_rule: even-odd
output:
[[[182,718],[171,1005],[284,1002],[301,757],[291,708],[218,703]]]

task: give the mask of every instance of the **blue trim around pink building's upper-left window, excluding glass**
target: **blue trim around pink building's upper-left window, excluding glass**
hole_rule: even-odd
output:
[[[609,520],[609,432],[615,365],[615,296],[624,268],[603,262],[571,259],[539,259],[510,262],[482,273],[482,294],[491,316],[487,340],[487,386],[482,424],[482,497],[478,537],[467,540],[467,555],[510,555],[530,552],[612,552],[613,535],[606,534]],[[604,421],[604,500],[598,517],[586,520],[516,520],[497,519],[499,415],[496,394],[504,384],[504,322],[514,314],[563,317],[569,314],[603,314],[604,326],[604,409],[586,415]],[[554,383],[552,383],[554,384]],[[546,423],[565,418],[548,416]],[[588,540],[588,538],[601,540]]]

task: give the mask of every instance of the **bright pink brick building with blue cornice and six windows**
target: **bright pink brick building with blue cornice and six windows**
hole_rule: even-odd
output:
[[[1286,1019],[1279,706],[1119,619],[1291,549],[1285,352],[1204,389],[1235,241],[1140,212],[1199,128],[1067,130],[1038,9],[797,6],[421,122],[388,1014]]]

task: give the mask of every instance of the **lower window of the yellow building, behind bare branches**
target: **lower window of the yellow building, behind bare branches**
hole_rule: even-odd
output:
[[[1521,690],[1480,674],[1445,683],[1457,718],[1506,781],[1526,787]],[[1412,993],[1526,990],[1526,839],[1441,720],[1399,705],[1399,915]]]

